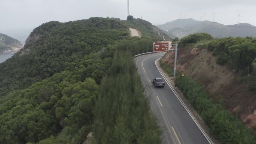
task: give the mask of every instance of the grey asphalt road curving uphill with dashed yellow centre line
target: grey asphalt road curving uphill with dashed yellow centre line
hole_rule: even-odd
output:
[[[164,80],[164,88],[153,86],[154,77],[163,79],[155,65],[156,59],[163,55],[164,53],[155,53],[140,56],[134,60],[146,93],[150,96],[152,111],[158,117],[159,126],[164,131],[164,144],[209,144],[167,82]]]

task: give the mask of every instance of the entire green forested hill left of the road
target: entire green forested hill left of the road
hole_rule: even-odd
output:
[[[135,24],[144,37],[129,36],[128,25]],[[0,64],[0,143],[82,144],[92,131],[97,143],[119,144],[125,134],[133,135],[126,143],[161,143],[131,59],[161,40],[152,33],[139,21],[114,18],[52,21],[35,28],[24,49]],[[110,101],[113,96],[119,99]],[[113,103],[119,113],[111,115],[106,110]],[[123,121],[129,113],[133,117]]]

